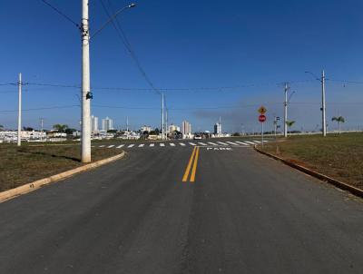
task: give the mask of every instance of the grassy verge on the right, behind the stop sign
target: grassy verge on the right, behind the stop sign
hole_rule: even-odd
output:
[[[363,189],[363,133],[291,136],[263,150]]]

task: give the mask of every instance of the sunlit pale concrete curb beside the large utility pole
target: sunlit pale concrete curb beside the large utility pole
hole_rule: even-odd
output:
[[[125,152],[122,152],[121,154],[115,155],[115,156],[107,158],[107,159],[88,163],[81,167],[75,168],[74,170],[71,170],[71,171],[64,171],[62,173],[55,174],[53,176],[50,176],[50,177],[47,177],[47,178],[44,178],[44,179],[41,179],[38,181],[33,181],[30,183],[27,183],[25,185],[22,185],[20,187],[12,189],[12,190],[0,192],[0,203],[2,203],[4,201],[8,201],[10,199],[23,195],[25,193],[40,189],[41,187],[44,187],[44,185],[50,184],[52,182],[64,180],[77,173],[81,173],[83,171],[89,171],[96,167],[102,166],[103,164],[109,163],[111,161],[116,161],[116,160],[122,159],[124,154],[125,154]]]

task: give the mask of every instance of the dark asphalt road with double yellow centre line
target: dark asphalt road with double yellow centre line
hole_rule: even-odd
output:
[[[363,202],[248,147],[129,151],[0,204],[0,273],[362,269]]]

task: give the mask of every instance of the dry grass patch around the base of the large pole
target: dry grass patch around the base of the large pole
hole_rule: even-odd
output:
[[[120,151],[93,148],[93,161],[111,157]],[[0,191],[68,171],[81,166],[80,145],[0,145]]]

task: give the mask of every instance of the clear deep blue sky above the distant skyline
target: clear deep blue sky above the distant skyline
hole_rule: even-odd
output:
[[[48,0],[78,22],[81,0]],[[103,0],[108,5],[108,0]],[[130,2],[109,0],[113,10]],[[363,2],[348,1],[135,1],[119,17],[143,70],[167,91],[169,122],[188,120],[195,131],[211,130],[221,115],[224,131],[258,130],[257,108],[282,116],[283,87],[291,82],[289,119],[295,129],[320,124],[319,82],[304,73],[326,70],[327,114],[346,117],[346,128],[363,126]],[[91,29],[107,20],[100,0],[90,0]],[[0,83],[76,84],[81,79],[80,35],[40,0],[0,3]],[[153,91],[111,91],[100,87],[150,88],[130,54],[109,25],[91,42],[92,113],[112,117],[124,127],[160,126],[161,99]],[[223,87],[239,88],[223,88]],[[221,89],[194,89],[194,88]],[[24,125],[46,128],[54,123],[79,127],[79,90],[26,85]],[[0,86],[0,124],[15,128],[16,86]]]

